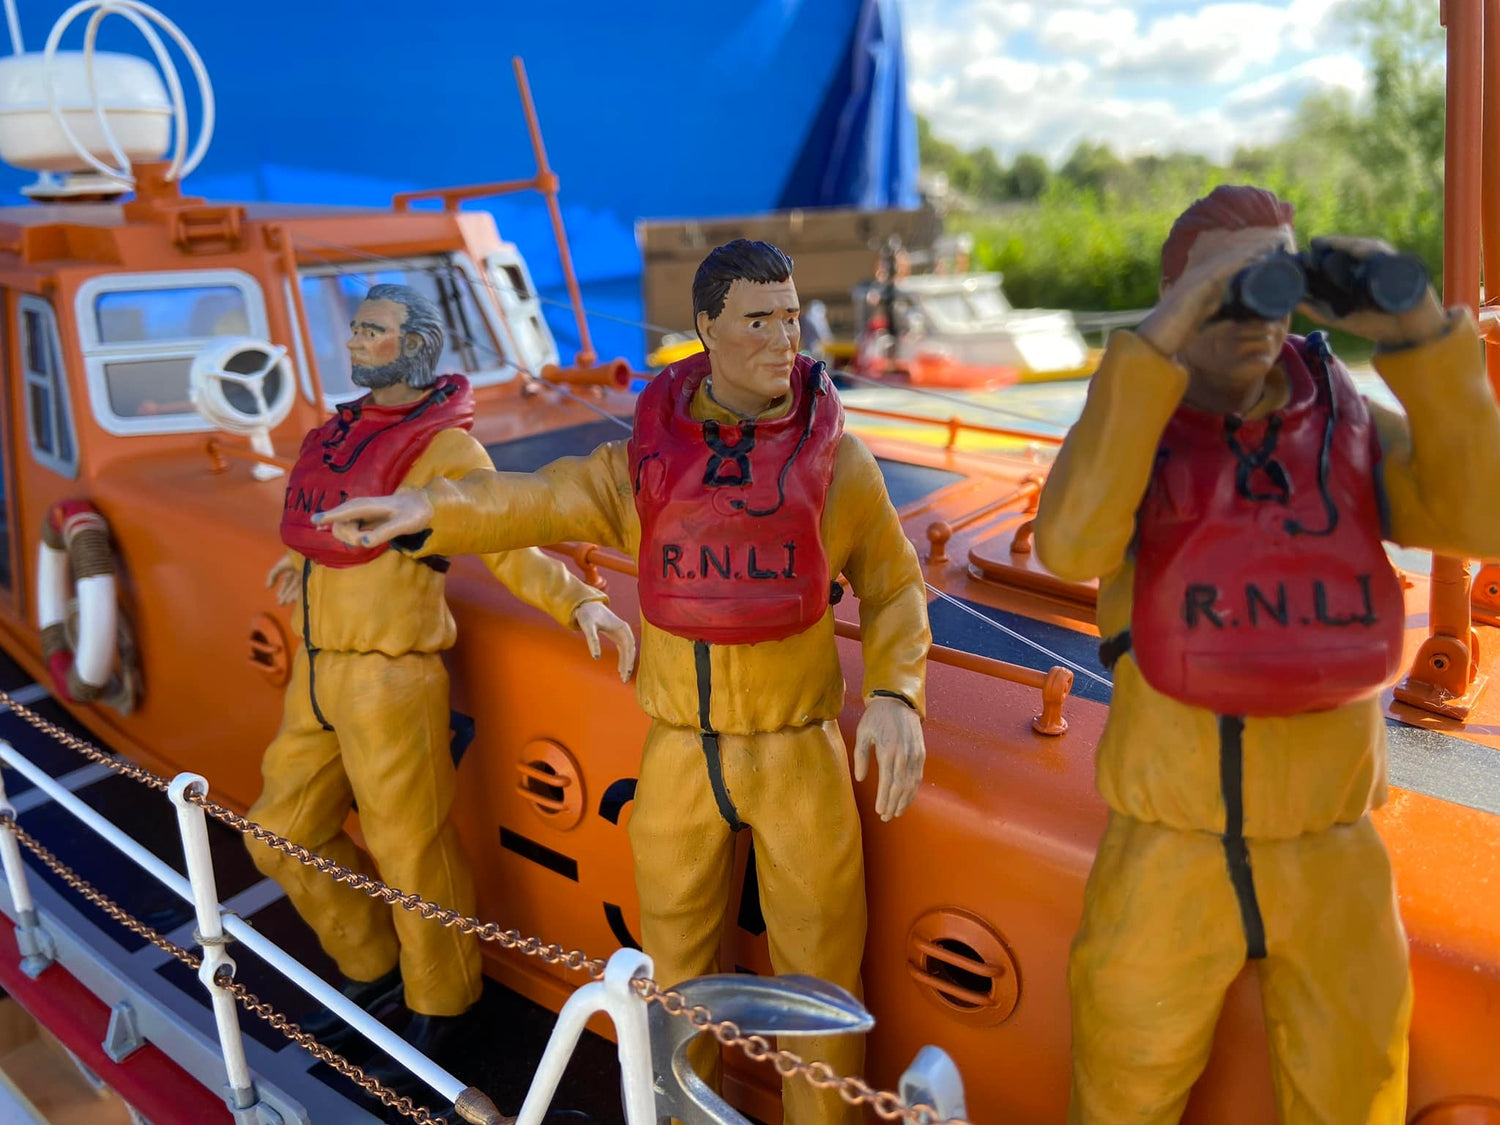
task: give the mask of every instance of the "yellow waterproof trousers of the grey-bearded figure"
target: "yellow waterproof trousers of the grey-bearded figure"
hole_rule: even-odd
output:
[[[474,914],[474,876],[448,824],[448,675],[432,652],[316,652],[298,648],[264,786],[249,816],[334,862],[374,874],[344,831],[352,802],[380,878],[402,891]],[[396,968],[406,1006],[456,1016],[480,993],[478,944],[423,921],[264,844],[255,866],[286,890],[297,914],[354,981]],[[399,945],[398,945],[399,940]]]

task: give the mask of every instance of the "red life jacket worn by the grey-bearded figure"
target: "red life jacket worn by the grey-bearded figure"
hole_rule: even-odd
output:
[[[357,567],[390,544],[345,546],[327,528],[315,526],[315,512],[338,507],[350,496],[386,496],[438,434],[474,424],[474,392],[462,375],[441,375],[432,390],[400,406],[376,405],[369,394],[345,402],[338,414],[309,430],[286,482],[282,543],[326,567]]]

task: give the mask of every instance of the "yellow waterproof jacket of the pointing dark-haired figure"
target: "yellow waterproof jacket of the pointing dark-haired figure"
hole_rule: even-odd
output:
[[[789,400],[764,417],[789,408]],[[736,416],[700,388],[694,418],[730,423]],[[464,555],[536,543],[582,540],[639,556],[640,520],[630,488],[626,442],[586,458],[562,458],[537,472],[474,472],[436,480],[432,536],[418,554]],[[848,576],[864,630],[864,698],[894,693],[926,714],[927,592],[916,550],[885,494],[864,444],[844,435],[824,506],[830,573]],[[758,645],[712,645],[710,722],[722,734],[748,735],[837,718],[844,681],[830,609],[812,628]],[[698,728],[693,642],[640,622],[636,694],[652,718]]]

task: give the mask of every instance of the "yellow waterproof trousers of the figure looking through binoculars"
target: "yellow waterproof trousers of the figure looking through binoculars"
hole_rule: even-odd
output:
[[[1401,1125],[1412,978],[1374,825],[1248,846],[1282,1125]],[[1112,813],[1068,966],[1068,1120],[1176,1122],[1245,954],[1224,840]]]

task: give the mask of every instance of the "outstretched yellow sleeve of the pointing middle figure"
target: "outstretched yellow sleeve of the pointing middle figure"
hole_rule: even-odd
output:
[[[424,490],[432,501],[430,536],[416,548],[402,544],[418,556],[488,555],[573,540],[628,550],[634,498],[622,441],[536,472],[477,470],[462,480],[434,480]]]

